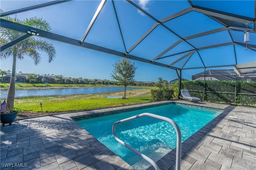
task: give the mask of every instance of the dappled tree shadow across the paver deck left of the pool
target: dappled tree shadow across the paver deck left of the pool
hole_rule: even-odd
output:
[[[1,126],[1,169],[127,168],[72,119],[55,115],[22,119]]]

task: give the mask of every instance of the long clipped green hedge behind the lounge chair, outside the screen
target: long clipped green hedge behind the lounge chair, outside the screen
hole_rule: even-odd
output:
[[[235,100],[235,89],[236,89],[236,104],[241,105],[256,105],[256,82],[242,82],[242,81],[205,81],[205,95],[204,91],[204,81],[182,81],[182,88],[192,90],[190,92],[191,96],[203,99],[206,102],[218,102],[234,104]],[[230,94],[231,93],[231,94]],[[232,94],[233,93],[233,94]]]

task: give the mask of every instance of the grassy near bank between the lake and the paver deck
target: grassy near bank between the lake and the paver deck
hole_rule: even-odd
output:
[[[137,86],[138,87],[138,86]],[[142,87],[148,88],[148,87]],[[129,93],[131,93],[129,95]],[[133,89],[126,91],[126,99],[107,98],[107,96],[123,96],[124,92],[102,94],[77,94],[68,96],[30,96],[15,98],[14,107],[22,112],[19,117],[33,117],[53,113],[64,113],[105,107],[126,106],[151,101],[150,89]],[[42,103],[42,108],[40,106]]]

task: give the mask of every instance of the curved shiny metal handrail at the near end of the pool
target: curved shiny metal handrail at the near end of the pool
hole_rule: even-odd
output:
[[[160,116],[160,115],[155,115],[155,114],[152,114],[152,113],[142,113],[142,114],[139,114],[139,115],[136,115],[136,116],[132,116],[132,117],[128,117],[126,119],[122,119],[120,121],[116,121],[112,127],[112,132],[113,132],[113,135],[114,135],[114,138],[116,139],[116,141],[118,141],[120,144],[124,145],[126,148],[132,150],[132,152],[136,153],[138,156],[142,157],[143,159],[145,159],[146,161],[148,161],[150,164],[152,164],[152,166],[154,166],[154,168],[156,170],[160,170],[158,165],[156,164],[156,162],[154,162],[152,159],[150,159],[148,156],[142,154],[141,152],[139,152],[138,150],[134,149],[133,147],[131,147],[130,145],[126,144],[124,141],[122,141],[121,139],[119,139],[117,136],[116,136],[116,125],[119,124],[119,123],[123,123],[123,122],[126,122],[126,121],[130,121],[130,120],[133,120],[133,119],[138,119],[140,117],[144,117],[144,116],[148,116],[148,117],[153,117],[153,118],[156,118],[156,119],[160,119],[160,120],[163,120],[163,121],[167,121],[169,122],[170,124],[173,125],[173,127],[175,128],[176,130],[176,133],[177,133],[177,146],[176,146],[176,170],[180,170],[180,162],[181,162],[181,132],[180,132],[180,128],[178,127],[178,125],[172,120],[172,119],[169,119],[167,117],[164,117],[164,116]]]

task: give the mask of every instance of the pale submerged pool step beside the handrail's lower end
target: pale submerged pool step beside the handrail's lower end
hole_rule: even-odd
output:
[[[160,147],[155,152],[150,154],[148,157],[150,159],[154,160],[154,162],[156,162],[170,151],[171,151],[171,149],[168,149],[166,147]],[[151,166],[151,164],[144,159],[142,159],[140,162],[137,162],[136,164],[132,165],[132,167],[136,170],[145,170],[146,168],[148,168],[150,166]]]

